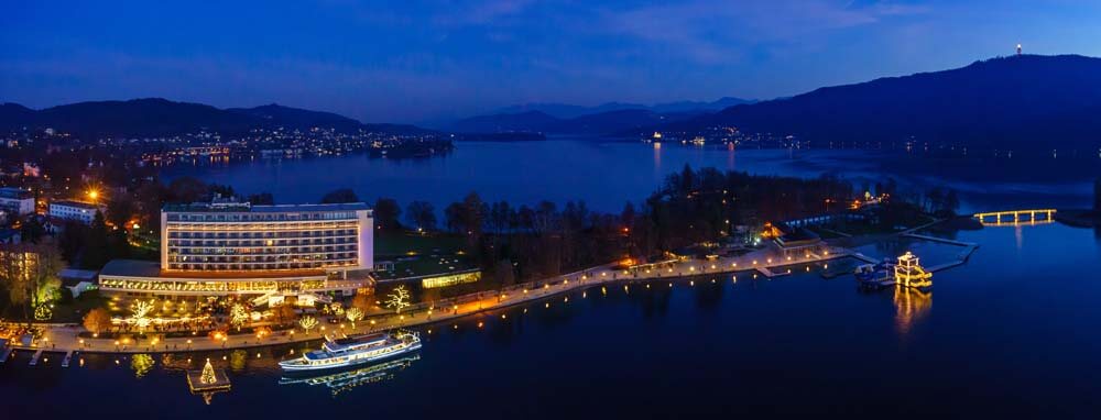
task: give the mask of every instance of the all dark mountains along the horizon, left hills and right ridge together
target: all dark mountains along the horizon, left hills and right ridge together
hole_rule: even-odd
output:
[[[738,103],[721,110],[706,109],[732,102]],[[654,131],[694,135],[716,128],[737,128],[751,134],[795,135],[813,145],[843,142],[897,146],[913,141],[974,148],[1048,153],[1073,148],[1099,153],[1101,58],[1016,55],[760,102],[723,98],[706,103],[633,107],[615,102],[599,107],[528,104],[506,109],[520,112],[460,120],[447,130],[637,136]],[[335,113],[279,104],[218,109],[165,99],[79,102],[42,110],[0,104],[0,131],[53,128],[78,135],[155,136],[200,129],[232,133],[264,126],[426,132],[412,125],[363,124]]]

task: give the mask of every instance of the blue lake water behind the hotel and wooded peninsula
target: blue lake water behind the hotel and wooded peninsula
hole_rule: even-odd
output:
[[[182,164],[162,174],[168,178],[193,175],[246,194],[269,191],[283,203],[316,202],[329,190],[348,187],[362,199],[391,197],[402,206],[428,200],[437,210],[477,191],[487,200],[528,205],[585,200],[590,208],[618,212],[626,201],[644,199],[685,164],[800,177],[833,173],[851,179],[857,188],[894,177],[916,190],[955,188],[961,192],[964,211],[1084,207],[1091,202],[1091,180],[1101,176],[1097,156],[928,159],[868,151],[731,151],[668,143],[655,148],[639,142],[593,140],[461,142],[446,157],[412,161],[349,155]]]

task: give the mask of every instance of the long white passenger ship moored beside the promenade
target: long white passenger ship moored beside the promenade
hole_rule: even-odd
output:
[[[279,366],[285,372],[337,369],[378,362],[418,349],[421,336],[410,332],[352,335],[336,340],[326,336],[320,350],[280,362]]]

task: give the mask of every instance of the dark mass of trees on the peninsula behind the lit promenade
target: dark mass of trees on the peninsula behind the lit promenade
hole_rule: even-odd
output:
[[[584,201],[489,203],[471,192],[444,209],[444,229],[466,237],[467,253],[489,275],[533,279],[626,257],[650,259],[730,236],[738,225],[753,230],[768,220],[842,211],[851,197],[852,186],[835,176],[802,179],[685,166],[620,214],[591,211]],[[430,205],[427,211],[426,203],[415,205],[408,212],[419,215],[410,214],[411,222],[430,213]]]

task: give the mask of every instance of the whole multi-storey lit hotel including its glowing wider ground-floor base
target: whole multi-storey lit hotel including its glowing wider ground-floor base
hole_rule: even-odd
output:
[[[215,200],[161,211],[161,261],[112,261],[100,290],[126,296],[228,296],[277,305],[327,301],[369,284],[374,223],[364,203],[250,206]]]

